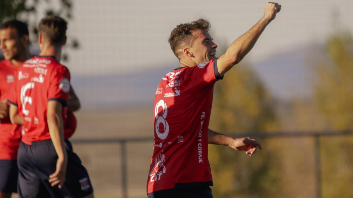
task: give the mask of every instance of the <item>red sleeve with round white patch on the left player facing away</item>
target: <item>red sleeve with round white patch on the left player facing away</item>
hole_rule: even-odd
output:
[[[69,92],[70,72],[64,66],[57,66],[50,76],[48,100],[55,100],[66,106]]]

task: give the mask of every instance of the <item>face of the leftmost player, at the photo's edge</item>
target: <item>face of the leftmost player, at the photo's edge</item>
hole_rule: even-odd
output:
[[[23,42],[18,36],[16,29],[6,28],[0,30],[0,49],[5,60],[16,59],[24,52]]]

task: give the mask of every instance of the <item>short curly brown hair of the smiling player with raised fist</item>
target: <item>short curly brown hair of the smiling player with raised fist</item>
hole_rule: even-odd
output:
[[[170,33],[168,42],[170,43],[170,48],[174,52],[175,56],[179,58],[179,53],[177,52],[178,47],[181,45],[190,45],[193,36],[192,32],[197,29],[209,30],[211,28],[210,22],[205,19],[198,19],[192,21],[191,23],[184,23],[177,25]]]

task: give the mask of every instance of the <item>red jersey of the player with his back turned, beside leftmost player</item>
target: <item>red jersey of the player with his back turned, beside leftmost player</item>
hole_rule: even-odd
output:
[[[18,113],[24,119],[24,143],[50,140],[48,101],[56,100],[66,106],[69,91],[70,72],[55,57],[35,56],[19,66],[8,101],[18,105]]]

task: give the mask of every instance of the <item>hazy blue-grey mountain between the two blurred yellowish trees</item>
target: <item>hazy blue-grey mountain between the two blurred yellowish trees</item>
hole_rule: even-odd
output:
[[[321,58],[322,47],[304,46],[283,51],[256,62],[253,67],[275,98],[310,98],[312,67],[309,62]]]

